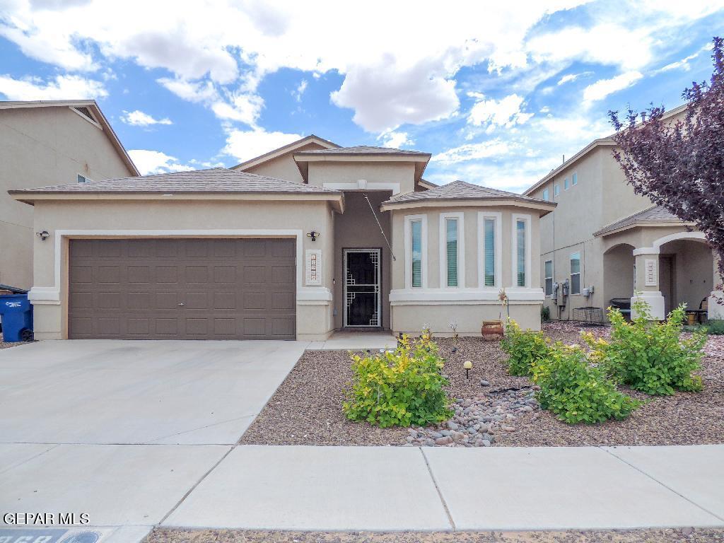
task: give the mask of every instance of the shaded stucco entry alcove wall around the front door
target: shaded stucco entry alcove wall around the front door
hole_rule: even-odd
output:
[[[379,204],[390,198],[390,192],[369,191],[370,203],[374,207],[382,228],[390,235],[390,214],[380,213]],[[334,217],[334,327],[342,328],[344,306],[344,282],[345,271],[343,269],[342,251],[352,248],[382,249],[382,261],[380,263],[381,277],[381,304],[382,327],[390,329],[390,262],[392,256],[387,243],[374,221],[374,216],[369,209],[369,204],[364,199],[363,193],[345,193],[345,213],[337,214]]]

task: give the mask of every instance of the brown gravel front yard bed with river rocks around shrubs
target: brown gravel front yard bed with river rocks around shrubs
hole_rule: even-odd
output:
[[[581,329],[606,337],[607,327],[582,328],[552,322],[552,340],[580,343]],[[348,421],[342,414],[343,387],[352,377],[348,353],[307,351],[271,397],[240,442],[263,445],[401,446],[581,446],[694,445],[724,442],[724,338],[711,336],[705,351],[704,391],[649,397],[625,390],[647,403],[624,421],[571,426],[542,411],[526,377],[510,376],[497,342],[481,338],[436,340],[447,361],[447,392],[455,416],[442,426],[379,429]],[[464,361],[472,361],[466,379]]]

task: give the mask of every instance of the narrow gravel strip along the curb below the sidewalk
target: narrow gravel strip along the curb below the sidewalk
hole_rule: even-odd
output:
[[[601,531],[319,532],[153,529],[145,543],[714,543],[722,529]]]

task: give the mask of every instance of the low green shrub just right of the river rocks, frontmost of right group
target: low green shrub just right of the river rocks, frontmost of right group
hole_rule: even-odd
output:
[[[594,424],[609,418],[626,418],[640,402],[616,390],[605,371],[589,366],[579,347],[556,342],[548,355],[533,366],[533,382],[539,385],[536,399],[568,424]]]

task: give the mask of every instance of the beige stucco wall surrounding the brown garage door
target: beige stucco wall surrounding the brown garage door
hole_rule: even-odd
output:
[[[35,336],[38,339],[59,339],[67,336],[67,239],[61,245],[60,284],[56,285],[56,230],[87,230],[90,237],[99,231],[116,231],[121,237],[136,237],[143,232],[126,235],[125,230],[162,230],[174,237],[174,230],[300,230],[303,251],[322,249],[322,285],[298,285],[297,334],[300,339],[323,339],[332,330],[332,300],[324,300],[323,291],[331,290],[334,260],[334,213],[326,202],[263,202],[263,201],[39,201],[35,205],[35,228],[48,230],[46,241],[33,242],[35,273],[33,290],[59,287],[60,303],[35,303]],[[316,242],[306,232],[316,230]],[[193,237],[193,233],[188,237]],[[257,234],[251,235],[256,237]],[[277,236],[269,232],[271,236]],[[227,237],[222,234],[220,237]],[[299,262],[299,258],[298,258]],[[303,266],[301,271],[303,271]],[[300,269],[298,268],[298,274]],[[302,300],[300,291],[315,292],[321,299]]]

